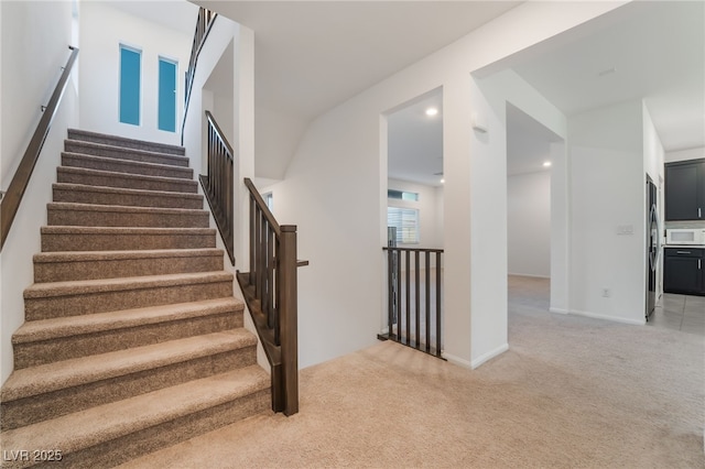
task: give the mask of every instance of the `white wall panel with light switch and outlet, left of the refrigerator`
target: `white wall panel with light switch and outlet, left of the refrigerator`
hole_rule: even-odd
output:
[[[640,100],[568,119],[571,313],[644,324],[642,126]]]

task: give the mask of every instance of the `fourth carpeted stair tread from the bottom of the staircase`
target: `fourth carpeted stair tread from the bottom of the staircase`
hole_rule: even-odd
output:
[[[229,272],[195,272],[118,279],[97,279],[70,282],[35,283],[24,291],[24,298],[85,295],[96,292],[122,292],[160,286],[193,285],[210,282],[230,282]]]

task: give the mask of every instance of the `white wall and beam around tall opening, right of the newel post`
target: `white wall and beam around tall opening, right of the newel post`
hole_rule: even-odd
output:
[[[272,187],[278,219],[299,225],[299,257],[311,261],[300,270],[302,367],[376,342],[383,306],[381,247],[387,236],[381,116],[440,86],[448,279],[445,356],[478,366],[506,350],[505,121],[492,112],[469,74],[616,6],[523,3],[311,123],[285,179]],[[490,130],[485,137],[470,128],[474,110],[488,113]]]

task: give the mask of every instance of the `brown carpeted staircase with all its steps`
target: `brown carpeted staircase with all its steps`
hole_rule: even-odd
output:
[[[187,166],[68,131],[0,391],[2,467],[117,466],[270,408]]]

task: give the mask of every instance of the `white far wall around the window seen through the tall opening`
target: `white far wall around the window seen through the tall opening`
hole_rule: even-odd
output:
[[[438,223],[438,190],[441,187],[425,186],[408,181],[389,179],[388,188],[419,194],[419,201],[388,199],[389,207],[419,209],[419,244],[400,244],[400,247],[443,249],[443,226]]]

